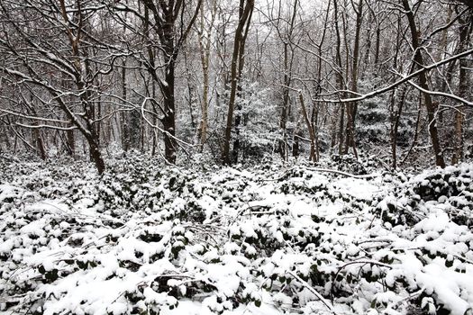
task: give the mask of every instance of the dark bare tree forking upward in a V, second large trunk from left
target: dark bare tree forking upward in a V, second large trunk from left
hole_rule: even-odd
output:
[[[186,0],[140,0],[138,3],[115,4],[113,7],[117,21],[137,35],[133,43],[136,50],[132,49],[130,53],[159,86],[162,103],[155,97],[147,99],[159,111],[154,112],[153,116],[159,117],[162,123],[164,157],[171,164],[176,163],[178,142],[175,96],[177,58],[196,22],[202,2],[197,0],[194,8],[190,7],[193,1]],[[143,7],[139,4],[143,4]],[[133,14],[140,23],[130,23],[123,19],[121,13]]]

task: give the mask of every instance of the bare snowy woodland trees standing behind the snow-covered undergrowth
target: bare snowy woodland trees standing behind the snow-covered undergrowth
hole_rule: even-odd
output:
[[[0,152],[471,157],[471,1],[2,1]]]

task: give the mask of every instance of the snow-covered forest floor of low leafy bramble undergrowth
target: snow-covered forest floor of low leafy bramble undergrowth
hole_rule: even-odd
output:
[[[473,164],[0,169],[0,314],[473,313]]]

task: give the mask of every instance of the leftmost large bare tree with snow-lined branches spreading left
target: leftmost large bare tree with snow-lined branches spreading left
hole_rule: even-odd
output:
[[[98,173],[102,174],[105,163],[97,129],[101,117],[96,116],[100,86],[96,84],[99,76],[107,76],[113,69],[115,58],[105,53],[109,46],[87,30],[101,6],[83,4],[82,0],[68,4],[60,0],[59,6],[42,0],[21,3],[2,0],[0,7],[3,21],[0,49],[8,58],[2,73],[8,82],[28,91],[31,97],[22,100],[30,112],[3,111],[38,122],[22,124],[23,127],[79,130]],[[88,53],[91,45],[101,49],[95,58]],[[100,66],[94,66],[96,62]],[[33,112],[33,107],[37,107],[34,103],[53,113],[59,109],[65,120]]]

